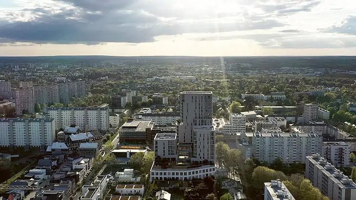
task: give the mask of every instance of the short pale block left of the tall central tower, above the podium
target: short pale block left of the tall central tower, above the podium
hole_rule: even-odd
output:
[[[155,157],[176,158],[177,157],[177,134],[157,133],[154,139]]]

